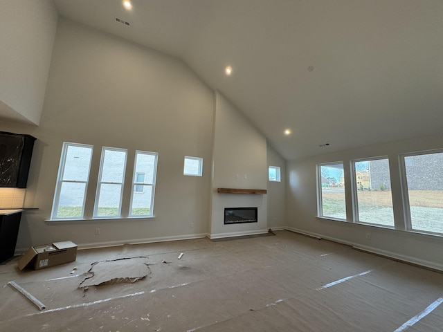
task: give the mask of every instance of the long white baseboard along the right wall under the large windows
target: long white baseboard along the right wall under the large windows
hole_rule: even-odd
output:
[[[416,257],[401,255],[401,254],[399,254],[397,252],[391,252],[391,251],[388,251],[388,250],[382,250],[382,249],[375,248],[375,247],[364,246],[364,245],[362,245],[360,243],[344,241],[342,239],[336,239],[334,237],[325,237],[322,234],[306,232],[305,230],[298,230],[297,228],[287,227],[286,230],[289,230],[291,232],[296,232],[296,233],[299,233],[299,234],[303,234],[303,235],[307,235],[309,237],[314,237],[316,239],[325,239],[325,240],[329,240],[329,241],[334,241],[334,242],[337,242],[337,243],[345,244],[347,246],[351,246],[352,248],[354,248],[356,250],[363,250],[365,252],[370,252],[372,254],[381,255],[383,257],[388,257],[390,259],[395,259],[397,261],[403,261],[405,263],[414,264],[414,265],[418,265],[418,266],[423,266],[425,268],[432,268],[433,270],[443,271],[443,265],[442,264],[437,264],[437,263],[435,263],[433,261],[426,261],[424,259],[418,259]]]

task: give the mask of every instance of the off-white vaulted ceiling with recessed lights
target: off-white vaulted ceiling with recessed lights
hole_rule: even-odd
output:
[[[182,59],[288,160],[443,131],[442,0],[54,2]]]

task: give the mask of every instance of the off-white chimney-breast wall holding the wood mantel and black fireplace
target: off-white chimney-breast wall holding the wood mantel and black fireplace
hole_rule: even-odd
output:
[[[210,237],[266,232],[266,195],[217,193],[219,187],[266,189],[266,165],[266,138],[217,92]],[[241,207],[257,208],[257,223],[224,225],[224,208]]]

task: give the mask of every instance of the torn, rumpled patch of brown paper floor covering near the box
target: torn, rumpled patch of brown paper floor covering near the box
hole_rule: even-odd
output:
[[[151,273],[147,266],[147,257],[128,257],[96,261],[91,264],[90,274],[78,285],[87,286],[134,283]]]

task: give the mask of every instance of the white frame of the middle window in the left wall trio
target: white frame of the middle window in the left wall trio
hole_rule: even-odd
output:
[[[123,163],[123,176],[122,181],[120,182],[109,182],[109,181],[102,181],[102,173],[105,163],[105,152],[106,151],[119,151],[119,152],[125,152],[125,162]],[[100,157],[100,168],[98,169],[98,176],[97,176],[97,188],[96,188],[96,198],[94,201],[94,209],[93,209],[93,219],[118,219],[121,218],[122,214],[122,202],[123,202],[123,194],[125,189],[125,175],[126,175],[126,166],[127,166],[127,149],[122,149],[118,147],[102,147],[102,155]],[[121,185],[121,191],[120,191],[120,201],[118,202],[118,214],[116,216],[99,216],[98,215],[98,203],[100,202],[100,189],[102,187],[102,184],[110,184],[110,185]]]

